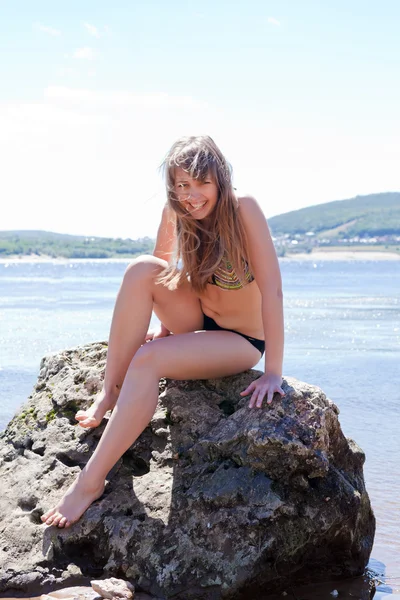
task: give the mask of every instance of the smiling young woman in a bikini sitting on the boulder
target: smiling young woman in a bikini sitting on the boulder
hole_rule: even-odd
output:
[[[178,140],[163,166],[168,201],[154,253],[127,268],[103,390],[76,418],[97,427],[114,410],[85,468],[43,515],[47,525],[69,527],[102,495],[108,472],[151,420],[161,377],[234,375],[266,347],[265,373],[242,395],[251,394],[250,408],[284,395],[281,277],[260,207],[236,196],[230,166],[208,136]],[[153,310],[161,326],[147,332]]]

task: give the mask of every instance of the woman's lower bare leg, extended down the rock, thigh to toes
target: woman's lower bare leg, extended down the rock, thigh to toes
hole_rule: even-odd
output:
[[[228,331],[175,335],[145,344],[136,353],[103,436],[89,462],[57,506],[42,517],[47,525],[69,527],[104,489],[107,473],[149,423],[162,376],[206,379],[254,366],[259,352]]]

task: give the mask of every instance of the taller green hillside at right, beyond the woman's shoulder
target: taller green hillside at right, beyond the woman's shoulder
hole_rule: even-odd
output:
[[[356,196],[294,210],[269,219],[273,235],[349,238],[400,235],[400,192]]]

